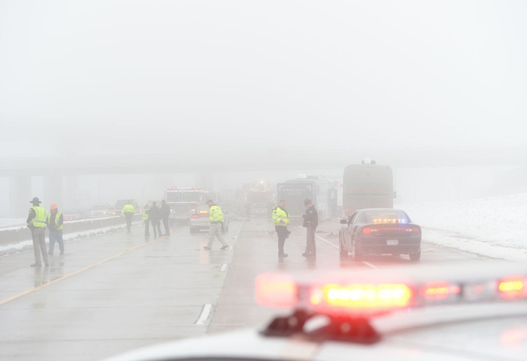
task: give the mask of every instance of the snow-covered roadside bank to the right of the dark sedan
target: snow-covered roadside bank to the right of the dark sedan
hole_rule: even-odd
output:
[[[527,193],[397,205],[423,228],[423,241],[507,260],[527,260]]]

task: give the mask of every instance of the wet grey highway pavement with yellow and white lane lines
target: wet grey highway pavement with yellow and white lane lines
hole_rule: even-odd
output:
[[[33,269],[33,251],[0,259],[0,359],[96,360],[126,350],[228,329],[260,325],[274,311],[253,302],[257,274],[335,267],[383,267],[407,256],[338,255],[338,222],[319,226],[317,260],[302,257],[305,231],[291,226],[277,258],[274,226],[264,219],[232,222],[221,251],[203,250],[207,234],[174,225],[170,237],[145,242],[142,228],[66,243],[50,267]],[[426,237],[425,237],[426,239]],[[481,257],[423,244],[422,263]]]

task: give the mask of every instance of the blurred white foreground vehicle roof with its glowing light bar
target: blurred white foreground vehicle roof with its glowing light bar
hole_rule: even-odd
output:
[[[257,302],[290,310],[263,329],[109,360],[524,360],[527,270],[480,265],[262,274]]]

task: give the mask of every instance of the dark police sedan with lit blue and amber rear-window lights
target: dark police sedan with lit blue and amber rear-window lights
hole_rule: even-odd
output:
[[[421,227],[408,214],[390,208],[359,209],[340,221],[340,256],[354,259],[369,254],[408,254],[421,258]]]

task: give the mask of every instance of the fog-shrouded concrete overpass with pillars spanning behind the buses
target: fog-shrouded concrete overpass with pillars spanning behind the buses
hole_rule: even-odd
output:
[[[31,177],[44,177],[44,197],[60,200],[71,194],[76,176],[141,173],[196,173],[210,188],[212,174],[230,171],[344,169],[369,157],[394,169],[418,167],[525,167],[527,147],[452,147],[344,150],[268,150],[252,152],[185,152],[114,156],[0,158],[0,177],[9,178],[12,214],[23,214],[31,199]],[[66,176],[66,184],[64,177]]]

